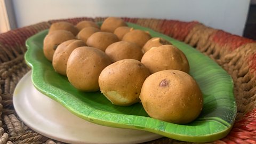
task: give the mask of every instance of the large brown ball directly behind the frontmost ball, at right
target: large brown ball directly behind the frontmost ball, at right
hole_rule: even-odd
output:
[[[162,45],[147,51],[141,62],[150,73],[167,69],[177,69],[189,73],[189,63],[186,55],[173,45]]]

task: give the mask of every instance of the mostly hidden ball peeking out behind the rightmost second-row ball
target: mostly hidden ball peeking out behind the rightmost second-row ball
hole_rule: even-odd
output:
[[[145,53],[145,52],[149,51],[152,47],[158,47],[158,46],[166,45],[166,44],[172,45],[172,43],[166,41],[162,37],[153,37],[147,41],[147,43],[142,47],[141,50],[143,53]]]

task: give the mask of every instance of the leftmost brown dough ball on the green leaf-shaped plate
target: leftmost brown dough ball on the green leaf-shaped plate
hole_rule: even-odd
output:
[[[52,61],[53,54],[58,45],[69,39],[75,39],[75,36],[67,30],[54,30],[47,34],[43,42],[43,51],[46,59]]]

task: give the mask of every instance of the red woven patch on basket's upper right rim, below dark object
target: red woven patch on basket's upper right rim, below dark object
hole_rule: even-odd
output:
[[[221,47],[227,46],[230,51],[235,50],[237,47],[254,42],[252,39],[248,39],[245,37],[231,35],[226,33],[225,31],[218,30],[211,38],[211,41],[219,44]]]

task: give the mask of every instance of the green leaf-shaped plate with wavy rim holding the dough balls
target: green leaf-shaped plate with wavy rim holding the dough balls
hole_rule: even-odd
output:
[[[162,37],[183,51],[190,64],[190,75],[199,84],[204,106],[193,122],[179,125],[150,118],[141,103],[129,107],[112,105],[100,92],[76,90],[67,77],[55,73],[43,54],[43,39],[47,30],[28,38],[25,60],[33,69],[32,81],[39,91],[66,107],[71,113],[92,123],[145,130],[165,137],[191,142],[214,141],[225,137],[236,116],[236,102],[231,77],[213,60],[193,47],[166,35],[127,23],[129,27],[149,31],[152,37]]]

